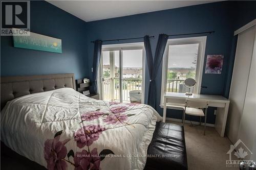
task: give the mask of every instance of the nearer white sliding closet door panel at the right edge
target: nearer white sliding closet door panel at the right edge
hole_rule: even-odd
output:
[[[255,27],[254,27],[255,28]],[[247,84],[247,91],[244,102],[244,110],[240,122],[238,138],[253,152],[256,143],[256,37],[252,53],[250,74]],[[256,151],[253,152],[256,155]],[[256,160],[256,156],[254,156]]]

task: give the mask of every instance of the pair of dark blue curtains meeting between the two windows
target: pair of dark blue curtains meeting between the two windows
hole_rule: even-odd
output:
[[[156,108],[156,76],[158,68],[163,59],[163,53],[168,40],[168,35],[159,34],[157,47],[155,52],[155,58],[153,62],[153,56],[151,52],[151,45],[148,36],[144,37],[144,46],[147,58],[148,71],[150,72],[150,85],[148,87],[147,104]]]

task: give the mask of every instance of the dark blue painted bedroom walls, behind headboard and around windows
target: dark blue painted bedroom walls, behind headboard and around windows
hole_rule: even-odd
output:
[[[40,75],[73,72],[75,78],[92,78],[93,43],[96,39],[155,36],[151,39],[153,54],[158,35],[215,31],[207,36],[207,54],[224,54],[221,75],[203,74],[202,94],[228,96],[236,39],[233,31],[256,18],[256,2],[219,2],[157,11],[132,16],[84,22],[45,2],[31,1],[31,31],[62,39],[62,54],[14,48],[11,36],[1,37],[1,76]],[[178,38],[178,37],[177,37]],[[140,42],[142,40],[111,43]],[[107,43],[104,43],[107,44]],[[205,68],[205,63],[204,63]],[[157,80],[157,105],[160,104],[161,71]],[[145,96],[149,76],[146,66]],[[162,109],[157,111],[162,115]],[[214,108],[207,122],[214,123]],[[181,118],[177,110],[168,110],[167,117]],[[189,117],[187,117],[189,119]],[[192,117],[192,120],[197,120]]]

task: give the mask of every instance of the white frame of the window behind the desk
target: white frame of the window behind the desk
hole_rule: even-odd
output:
[[[197,69],[196,69],[196,86],[194,93],[200,94],[201,92],[201,83],[204,67],[204,56],[205,56],[205,46],[206,46],[207,36],[200,37],[188,37],[188,38],[174,38],[168,39],[165,47],[165,52],[163,55],[163,66],[162,66],[162,87],[161,87],[161,103],[160,106],[163,106],[163,95],[166,91],[166,82],[167,82],[167,69],[168,69],[168,52],[169,45],[181,45],[181,44],[196,44],[198,43],[198,56],[197,56]]]

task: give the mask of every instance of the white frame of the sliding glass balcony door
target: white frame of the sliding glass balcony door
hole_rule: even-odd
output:
[[[119,67],[120,67],[120,74],[122,75],[122,50],[143,50],[142,52],[142,99],[141,99],[141,103],[144,104],[145,101],[145,48],[144,48],[144,42],[135,42],[135,43],[122,43],[122,44],[108,44],[108,45],[102,45],[101,47],[101,51],[119,51],[119,56],[120,56],[120,60],[119,60]],[[102,56],[102,53],[101,53]],[[98,75],[100,74],[100,72],[102,72],[102,60],[100,57],[100,64],[99,64],[99,71],[98,71]],[[121,79],[122,77],[119,76],[119,82],[120,82],[120,87],[122,87],[121,84]],[[98,89],[100,89],[100,100],[102,100],[102,78],[100,76],[98,76]],[[120,90],[121,91],[121,90]],[[121,91],[122,92],[122,91]],[[121,101],[121,99],[120,99]],[[121,101],[122,102],[122,101]]]

